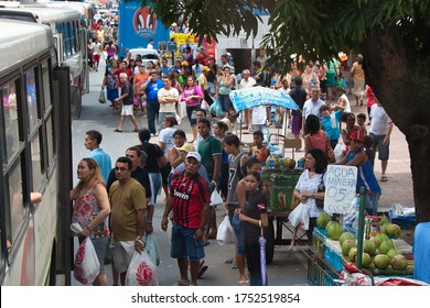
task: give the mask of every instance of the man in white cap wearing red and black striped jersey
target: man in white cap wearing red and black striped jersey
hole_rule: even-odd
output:
[[[174,284],[176,286],[197,285],[200,261],[205,257],[203,234],[208,219],[211,195],[207,183],[197,172],[201,161],[198,152],[186,155],[185,170],[173,175],[161,220],[161,228],[166,231],[168,216],[173,210],[171,256],[178,258],[181,275]]]

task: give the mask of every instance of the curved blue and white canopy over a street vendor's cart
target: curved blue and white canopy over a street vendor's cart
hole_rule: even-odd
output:
[[[265,87],[251,87],[241,90],[234,90],[229,95],[233,107],[241,111],[257,106],[278,106],[297,110],[295,101],[284,91],[278,91]]]

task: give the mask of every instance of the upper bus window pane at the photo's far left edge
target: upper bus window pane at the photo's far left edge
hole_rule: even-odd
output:
[[[3,102],[3,119],[6,130],[6,150],[1,151],[1,161],[4,163],[17,152],[20,145],[18,130],[18,98],[14,81],[4,85],[1,89]]]

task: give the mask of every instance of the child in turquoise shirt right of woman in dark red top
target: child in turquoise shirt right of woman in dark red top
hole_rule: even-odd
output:
[[[343,107],[335,105],[332,110],[330,111],[329,106],[323,105],[320,108],[321,112],[321,127],[323,131],[326,133],[330,145],[334,150],[336,147],[338,138],[341,136],[341,119],[343,116]]]

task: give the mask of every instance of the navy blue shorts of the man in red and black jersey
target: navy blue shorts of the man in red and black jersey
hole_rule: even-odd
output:
[[[173,222],[171,257],[187,257],[190,261],[198,261],[205,257],[203,239],[198,242],[194,240],[196,231],[197,229],[185,228]]]

